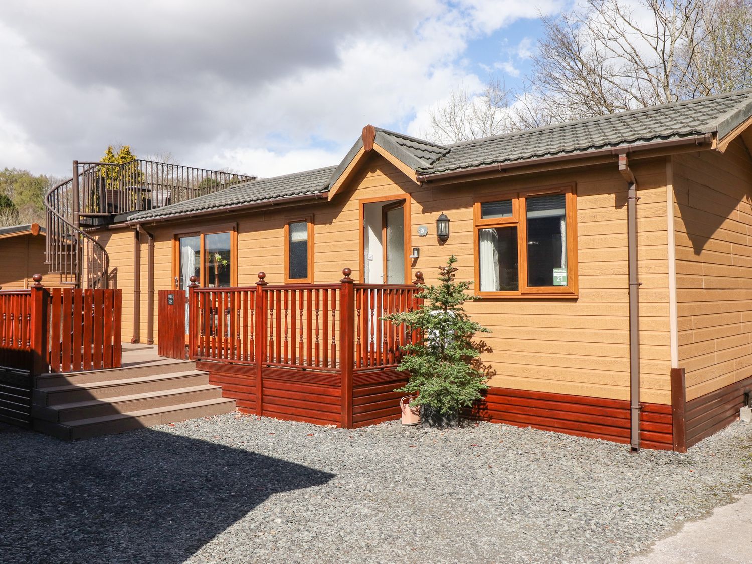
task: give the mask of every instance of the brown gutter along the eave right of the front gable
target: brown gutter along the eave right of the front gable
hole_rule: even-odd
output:
[[[703,135],[693,135],[681,139],[669,139],[667,141],[651,141],[638,145],[621,145],[620,147],[609,147],[608,149],[597,149],[591,151],[582,151],[580,153],[566,153],[562,155],[541,156],[535,159],[526,159],[514,162],[505,162],[499,165],[480,166],[478,168],[466,168],[461,171],[436,172],[434,174],[418,174],[418,182],[432,182],[435,180],[444,180],[458,176],[469,176],[473,174],[483,174],[484,172],[506,172],[513,168],[522,168],[533,165],[546,165],[552,162],[563,162],[575,159],[589,159],[597,156],[619,156],[625,154],[639,153],[641,151],[665,149],[667,147],[682,147],[685,145],[705,145],[713,143],[713,134],[705,133]]]

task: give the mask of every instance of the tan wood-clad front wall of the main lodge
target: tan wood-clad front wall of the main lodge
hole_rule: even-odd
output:
[[[666,159],[632,162],[638,178],[638,258],[641,314],[641,395],[644,402],[671,403],[669,373],[669,284],[667,261]],[[577,194],[579,295],[561,299],[484,299],[469,304],[475,320],[493,330],[484,335],[493,352],[484,355],[493,376],[490,385],[518,390],[567,393],[606,399],[629,398],[629,311],[626,239],[626,182],[616,162],[525,174],[450,186],[418,186],[381,156],[374,155],[331,202],[305,204],[315,229],[314,282],[331,283],[341,269],[360,280],[360,201],[407,198],[411,233],[408,247],[420,247],[411,274],[423,271],[435,281],[447,256],[459,258],[459,275],[474,275],[473,213],[476,198],[537,186],[571,183]],[[284,224],[297,208],[224,215],[238,229],[238,285],[254,284],[265,271],[269,284],[284,283]],[[451,234],[441,244],[435,220],[450,217]],[[217,219],[194,218],[145,228],[155,235],[154,287],[174,287],[172,239]],[[424,225],[429,235],[420,237]],[[97,234],[110,254],[113,279],[123,289],[123,335],[132,336],[134,232],[111,229]],[[147,336],[147,238],[141,236],[141,342]],[[155,299],[156,305],[156,299]],[[158,323],[156,307],[154,323]],[[156,338],[156,329],[154,330]],[[229,375],[227,378],[232,378]],[[233,384],[235,385],[235,384]],[[240,384],[237,384],[240,385]]]

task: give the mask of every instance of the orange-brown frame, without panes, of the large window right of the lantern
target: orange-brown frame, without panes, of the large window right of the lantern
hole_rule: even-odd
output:
[[[527,260],[527,208],[526,201],[534,196],[565,195],[566,217],[566,286],[529,286]],[[512,201],[511,217],[481,218],[481,204],[486,202]],[[517,226],[517,276],[518,290],[505,292],[481,292],[481,256],[480,230],[493,227]],[[577,298],[578,260],[577,260],[577,194],[574,184],[556,184],[538,186],[529,190],[510,190],[493,193],[475,199],[473,203],[473,253],[475,263],[475,296],[487,298]]]

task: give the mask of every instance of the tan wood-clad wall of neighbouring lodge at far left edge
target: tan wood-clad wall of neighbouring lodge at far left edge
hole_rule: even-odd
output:
[[[59,274],[48,274],[44,264],[44,235],[30,232],[0,238],[0,288],[21,290],[34,284],[32,276],[41,274],[46,287],[60,287]]]

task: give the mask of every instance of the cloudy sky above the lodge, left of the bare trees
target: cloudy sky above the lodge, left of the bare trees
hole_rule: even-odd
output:
[[[0,168],[70,176],[108,144],[262,177],[337,164],[367,123],[420,136],[453,87],[514,86],[565,3],[2,0]]]

